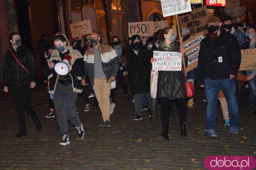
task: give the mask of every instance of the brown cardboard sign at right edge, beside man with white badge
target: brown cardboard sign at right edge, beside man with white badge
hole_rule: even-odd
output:
[[[256,48],[241,50],[241,64],[239,70],[254,69],[256,61]]]

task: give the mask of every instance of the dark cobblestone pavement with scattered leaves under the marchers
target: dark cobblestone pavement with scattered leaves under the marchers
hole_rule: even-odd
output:
[[[127,78],[126,78],[127,81]],[[128,81],[126,83],[128,85]],[[205,169],[204,159],[209,155],[252,155],[256,156],[255,110],[248,89],[240,97],[240,131],[230,135],[230,127],[224,127],[224,119],[218,103],[218,137],[202,135],[206,127],[206,103],[203,91],[196,89],[194,109],[187,110],[187,137],[180,137],[179,118],[174,106],[170,117],[170,142],[157,140],[161,132],[160,107],[150,117],[144,112],[141,121],[134,121],[134,104],[124,102],[124,93],[117,83],[116,108],[111,115],[111,128],[99,127],[101,113],[91,109],[83,111],[84,102],[78,97],[78,111],[84,124],[85,136],[77,140],[72,125],[70,144],[59,146],[62,136],[55,131],[56,118],[47,119],[48,105],[36,105],[42,130],[37,132],[34,123],[26,115],[28,135],[16,138],[18,132],[16,111],[0,113],[0,169]],[[44,86],[41,86],[44,91]],[[44,103],[47,94],[37,90]],[[36,92],[35,92],[36,93]],[[39,95],[40,93],[40,95]],[[33,100],[34,102],[34,100]],[[6,103],[6,104],[5,104]],[[1,108],[12,105],[12,100],[2,100]]]

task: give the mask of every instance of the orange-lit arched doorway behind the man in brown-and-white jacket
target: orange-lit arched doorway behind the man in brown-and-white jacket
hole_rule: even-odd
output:
[[[71,1],[72,23],[90,19],[92,30],[104,30],[107,39],[107,6],[104,0],[72,0]]]

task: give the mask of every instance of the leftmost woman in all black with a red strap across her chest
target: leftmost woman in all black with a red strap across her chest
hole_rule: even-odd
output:
[[[36,115],[33,105],[31,105],[32,89],[36,86],[36,64],[32,52],[27,47],[22,46],[20,35],[13,32],[9,36],[11,49],[6,51],[4,57],[4,92],[8,92],[8,86],[12,90],[14,103],[17,111],[20,131],[16,137],[27,134],[24,110],[30,115],[36,125],[36,130],[41,130],[40,120]],[[23,65],[23,67],[16,61]],[[27,69],[27,71],[26,71]]]

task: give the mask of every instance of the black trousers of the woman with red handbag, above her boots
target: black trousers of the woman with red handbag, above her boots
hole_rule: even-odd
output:
[[[176,107],[178,108],[178,113],[180,117],[180,121],[186,121],[186,107],[184,99],[175,98],[175,100],[169,100],[166,97],[159,97],[159,101],[161,103],[161,122],[162,125],[169,126],[169,114],[170,109],[172,109],[172,103],[175,101]]]

